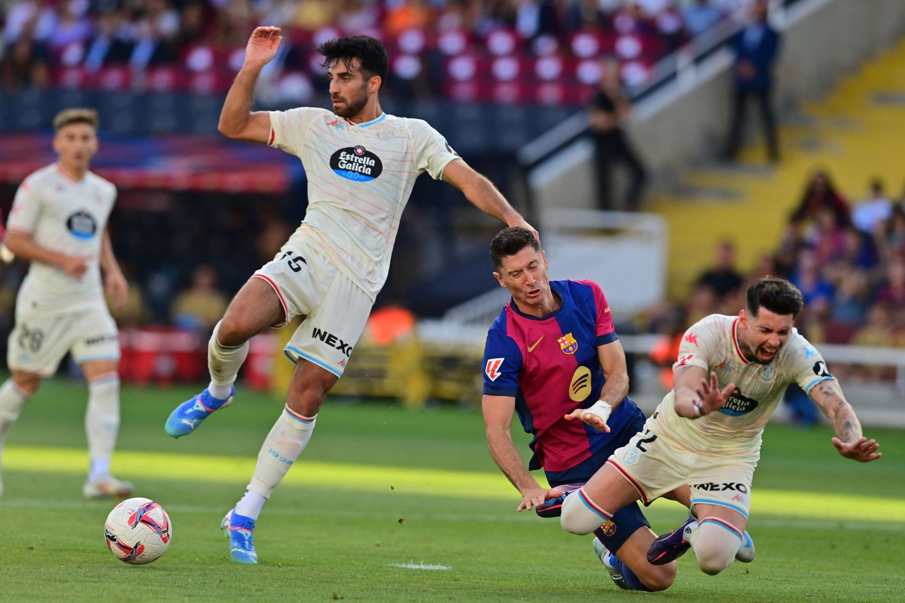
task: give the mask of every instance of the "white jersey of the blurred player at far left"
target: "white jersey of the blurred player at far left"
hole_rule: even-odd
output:
[[[103,304],[100,244],[116,186],[87,172],[76,182],[57,164],[30,174],[15,193],[6,227],[68,256],[90,256],[88,271],[72,278],[62,269],[33,261],[19,289],[16,312],[66,314]]]

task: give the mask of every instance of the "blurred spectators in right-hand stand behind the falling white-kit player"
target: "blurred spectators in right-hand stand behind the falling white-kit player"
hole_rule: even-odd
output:
[[[672,365],[688,325],[714,312],[738,314],[748,284],[767,275],[788,278],[801,289],[805,309],[795,326],[815,344],[905,347],[905,191],[891,197],[873,179],[854,203],[826,171],[807,180],[788,217],[778,248],[755,269],[735,266],[730,241],[719,244],[713,266],[697,279],[681,305],[653,312],[651,328],[663,335],[654,359]],[[835,372],[870,373],[883,367],[839,367]],[[671,375],[664,372],[666,382]]]

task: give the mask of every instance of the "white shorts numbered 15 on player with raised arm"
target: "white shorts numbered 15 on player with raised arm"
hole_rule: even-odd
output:
[[[286,356],[341,376],[374,305],[365,291],[299,240],[286,243],[252,278],[267,281],[276,291],[286,324],[304,316],[283,348]]]

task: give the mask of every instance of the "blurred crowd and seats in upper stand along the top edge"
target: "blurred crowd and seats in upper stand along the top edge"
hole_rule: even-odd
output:
[[[142,86],[221,90],[241,66],[252,28],[272,24],[285,28],[273,71],[292,74],[286,87],[296,96],[319,73],[319,42],[367,33],[391,52],[390,84],[411,82],[414,94],[481,99],[493,94],[494,82],[510,89],[565,82],[559,96],[550,94],[568,101],[570,83],[593,87],[599,80],[601,57],[624,61],[624,80],[639,84],[666,53],[749,2],[0,0],[0,82],[6,89],[121,88],[149,74]],[[114,67],[119,71],[103,77]],[[161,67],[175,71],[155,75]],[[538,101],[519,90],[509,94],[511,101]]]

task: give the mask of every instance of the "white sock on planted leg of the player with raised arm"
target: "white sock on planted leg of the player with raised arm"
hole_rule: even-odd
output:
[[[282,411],[258,453],[258,464],[254,466],[248,494],[259,495],[263,500],[271,497],[274,488],[280,484],[292,463],[308,444],[316,419],[317,415],[303,417],[289,410],[289,407]],[[261,513],[263,500],[255,496],[249,497],[248,494],[243,496],[235,511],[256,519],[256,513]]]

